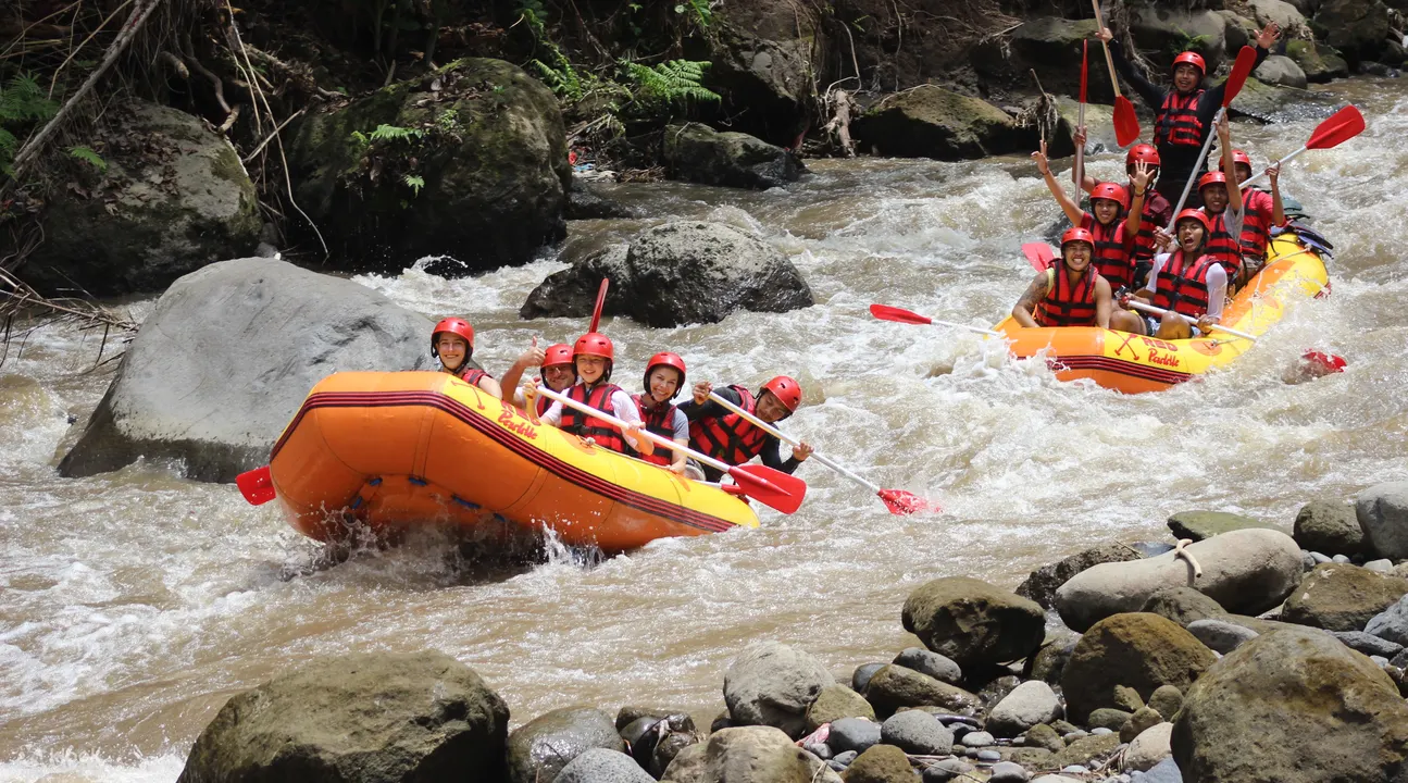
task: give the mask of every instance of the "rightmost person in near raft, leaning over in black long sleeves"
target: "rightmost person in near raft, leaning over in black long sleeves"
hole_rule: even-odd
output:
[[[680,406],[684,418],[690,421],[690,446],[719,462],[742,465],[762,455],[763,465],[791,473],[811,456],[805,441],[793,448],[786,461],[781,458],[781,444],[773,435],[753,427],[743,417],[708,399],[714,384],[701,380],[694,384],[694,399]],[[777,424],[797,413],[801,404],[801,386],[791,377],[780,375],[758,390],[753,396],[742,386],[727,386],[718,396],[756,415],[767,424]],[[704,476],[717,482],[722,472],[704,466]]]

